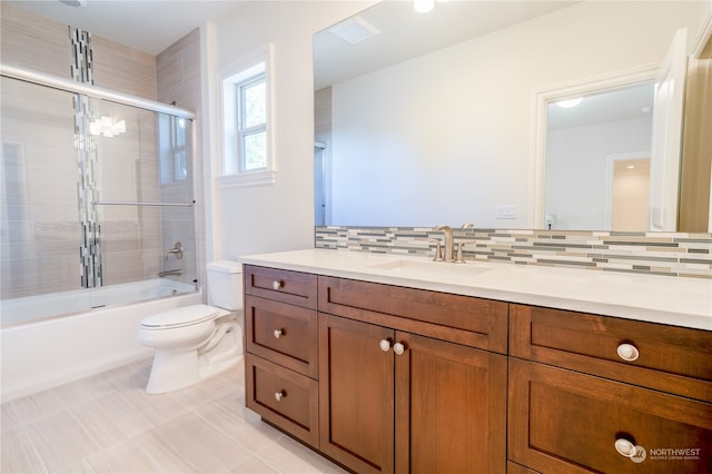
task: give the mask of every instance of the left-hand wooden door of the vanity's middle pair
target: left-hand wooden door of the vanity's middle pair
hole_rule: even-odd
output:
[[[358,473],[394,470],[394,359],[382,326],[319,313],[319,448]]]

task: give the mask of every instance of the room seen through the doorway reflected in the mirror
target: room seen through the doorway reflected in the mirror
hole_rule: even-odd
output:
[[[652,129],[652,80],[551,101],[545,228],[647,228]]]

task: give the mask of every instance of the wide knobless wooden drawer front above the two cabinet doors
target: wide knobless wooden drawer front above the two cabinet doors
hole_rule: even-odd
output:
[[[319,310],[506,354],[507,304],[469,296],[319,277]]]

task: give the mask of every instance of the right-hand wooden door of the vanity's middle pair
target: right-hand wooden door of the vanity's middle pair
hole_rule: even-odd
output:
[[[506,471],[507,358],[397,333],[396,471]]]

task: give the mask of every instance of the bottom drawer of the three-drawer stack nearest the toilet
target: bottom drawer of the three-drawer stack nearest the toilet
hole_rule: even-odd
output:
[[[245,355],[247,407],[312,446],[318,446],[318,383],[307,376]]]

